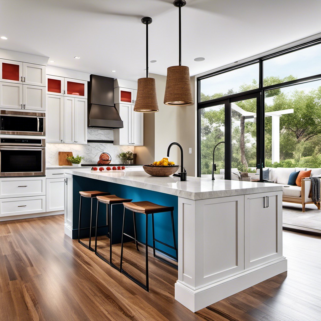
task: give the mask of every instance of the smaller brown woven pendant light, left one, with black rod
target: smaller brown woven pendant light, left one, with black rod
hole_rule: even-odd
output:
[[[144,17],[142,22],[146,25],[146,78],[138,79],[134,111],[153,113],[158,111],[158,102],[155,79],[148,77],[148,25],[152,23],[152,18]]]

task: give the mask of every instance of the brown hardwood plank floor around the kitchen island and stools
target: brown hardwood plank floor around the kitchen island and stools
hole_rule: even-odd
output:
[[[177,270],[152,256],[148,293],[66,237],[61,215],[2,222],[0,320],[320,321],[321,238],[283,236],[287,274],[192,313],[174,299]],[[126,245],[124,268],[142,280],[143,255]]]

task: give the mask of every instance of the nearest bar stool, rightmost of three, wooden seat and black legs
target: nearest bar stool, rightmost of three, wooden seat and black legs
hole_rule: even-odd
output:
[[[143,242],[140,242],[137,240],[136,236],[135,238],[133,238],[132,236],[124,233],[124,228],[125,228],[125,210],[126,208],[128,210],[131,210],[133,212],[133,215],[135,217],[135,213],[142,213],[146,215],[146,239],[145,239],[145,244]],[[120,254],[120,272],[125,274],[129,279],[131,279],[132,281],[134,281],[136,284],[138,284],[139,286],[141,286],[143,289],[145,289],[146,291],[149,291],[149,280],[148,280],[148,247],[151,247],[153,249],[153,255],[160,259],[162,262],[175,267],[176,269],[178,268],[177,265],[169,262],[168,260],[157,256],[155,254],[155,250],[162,252],[170,257],[172,257],[173,259],[177,259],[178,258],[178,251],[177,251],[177,246],[176,246],[176,239],[175,239],[175,229],[174,229],[174,215],[173,215],[173,211],[174,211],[174,207],[168,207],[168,206],[162,206],[162,205],[158,205],[158,204],[154,204],[148,201],[143,201],[143,202],[133,202],[133,203],[124,203],[124,221],[123,221],[123,233],[122,233],[122,242],[121,242],[121,254]],[[173,243],[174,246],[171,246],[169,244],[166,244],[158,239],[155,239],[155,232],[154,232],[154,214],[155,213],[164,213],[164,212],[170,212],[171,214],[171,220],[172,220],[172,231],[173,231]],[[153,246],[148,245],[148,215],[152,214],[152,233],[153,233]],[[135,219],[134,219],[135,220]],[[127,273],[126,271],[123,270],[122,266],[123,266],[123,247],[124,247],[124,235],[130,237],[131,239],[134,239],[136,242],[145,245],[145,251],[146,251],[146,285],[144,285],[142,282],[138,281],[137,279],[135,279],[132,275],[130,275],[129,273]],[[155,241],[163,244],[167,247],[170,247],[172,249],[174,249],[176,251],[176,257],[167,254],[166,252],[158,249],[155,247]]]

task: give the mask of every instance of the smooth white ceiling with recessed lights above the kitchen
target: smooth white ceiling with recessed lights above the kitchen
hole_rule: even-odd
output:
[[[321,1],[187,0],[182,8],[182,65],[191,75],[321,31]],[[49,56],[55,65],[114,78],[178,65],[178,8],[172,0],[0,0],[0,48]],[[81,59],[74,59],[80,56]],[[205,57],[202,62],[194,58]],[[116,70],[112,73],[111,70]]]

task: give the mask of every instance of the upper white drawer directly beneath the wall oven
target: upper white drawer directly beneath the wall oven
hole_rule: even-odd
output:
[[[1,178],[0,198],[38,196],[46,194],[46,181],[38,178]]]

